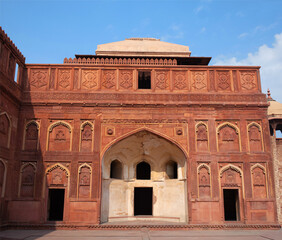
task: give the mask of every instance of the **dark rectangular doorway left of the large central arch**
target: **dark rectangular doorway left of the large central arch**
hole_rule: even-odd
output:
[[[49,221],[63,221],[65,189],[49,189]]]

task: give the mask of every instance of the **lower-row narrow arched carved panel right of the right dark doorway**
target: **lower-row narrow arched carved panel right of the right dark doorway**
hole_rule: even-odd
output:
[[[265,172],[260,167],[252,169],[252,180],[253,180],[253,198],[266,198],[266,177]]]

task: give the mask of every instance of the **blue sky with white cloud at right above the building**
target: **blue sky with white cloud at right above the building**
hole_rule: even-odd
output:
[[[282,102],[282,0],[0,0],[0,25],[27,63],[63,63],[98,44],[155,37],[210,65],[259,65]]]

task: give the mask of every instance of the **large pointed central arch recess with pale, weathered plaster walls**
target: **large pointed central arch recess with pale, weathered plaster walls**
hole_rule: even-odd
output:
[[[113,177],[113,162],[122,176]],[[168,172],[173,163],[173,177]],[[173,142],[150,131],[134,133],[108,148],[102,161],[101,222],[187,222],[186,157]]]

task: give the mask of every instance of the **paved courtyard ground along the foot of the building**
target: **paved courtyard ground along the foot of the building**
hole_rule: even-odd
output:
[[[282,240],[282,230],[5,230],[0,240]]]

